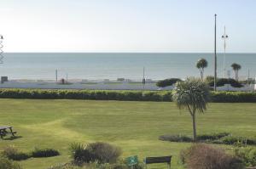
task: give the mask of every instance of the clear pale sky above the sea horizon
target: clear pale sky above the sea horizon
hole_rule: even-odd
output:
[[[256,0],[0,0],[5,52],[256,53]]]

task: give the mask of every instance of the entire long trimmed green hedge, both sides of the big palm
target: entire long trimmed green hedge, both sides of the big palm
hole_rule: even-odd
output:
[[[2,99],[92,99],[124,101],[172,101],[172,91],[0,89]],[[256,93],[211,92],[212,102],[256,102]]]

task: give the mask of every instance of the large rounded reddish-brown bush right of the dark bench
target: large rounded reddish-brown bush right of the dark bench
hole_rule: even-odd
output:
[[[243,169],[242,162],[207,144],[194,144],[183,155],[183,161],[189,169]]]

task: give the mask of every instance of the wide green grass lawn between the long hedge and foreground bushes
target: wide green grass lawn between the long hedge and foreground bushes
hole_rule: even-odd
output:
[[[104,141],[120,146],[123,156],[173,155],[189,144],[162,142],[168,133],[192,134],[190,116],[173,103],[89,100],[0,99],[0,126],[10,125],[22,138],[0,140],[0,149],[15,145],[25,152],[54,148],[60,156],[21,161],[24,168],[46,169],[70,161],[70,143]],[[198,133],[231,132],[256,137],[256,104],[209,104],[197,116]],[[160,166],[155,166],[160,168]],[[166,167],[162,167],[166,168]]]

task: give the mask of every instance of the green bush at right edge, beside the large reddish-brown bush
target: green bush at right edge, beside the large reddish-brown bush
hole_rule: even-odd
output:
[[[256,166],[256,148],[236,148],[235,155],[239,157],[246,166]]]

